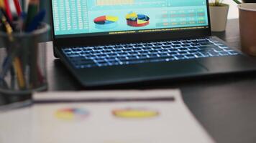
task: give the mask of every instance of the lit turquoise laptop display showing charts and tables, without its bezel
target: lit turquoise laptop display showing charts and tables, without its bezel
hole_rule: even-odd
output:
[[[206,0],[52,0],[56,38],[209,28]]]

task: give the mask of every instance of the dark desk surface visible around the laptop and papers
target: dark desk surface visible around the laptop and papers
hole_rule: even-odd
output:
[[[214,35],[239,49],[238,29],[237,19],[229,20],[227,31]],[[83,90],[63,64],[54,59],[51,47],[47,49],[47,74],[50,91]],[[140,89],[173,88],[181,89],[188,108],[217,143],[256,142],[256,74],[140,86]],[[0,104],[11,100],[0,97]]]

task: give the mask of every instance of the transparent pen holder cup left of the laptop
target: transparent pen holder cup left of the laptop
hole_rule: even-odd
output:
[[[0,24],[0,30],[4,26]],[[31,33],[0,31],[0,94],[31,94],[47,89],[46,44],[50,26]]]

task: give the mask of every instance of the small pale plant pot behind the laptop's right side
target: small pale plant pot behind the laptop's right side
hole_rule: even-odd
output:
[[[227,14],[229,13],[229,5],[209,7],[211,31],[225,31],[227,26]]]

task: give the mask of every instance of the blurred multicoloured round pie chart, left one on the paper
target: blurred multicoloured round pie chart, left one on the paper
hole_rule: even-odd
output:
[[[89,112],[79,108],[59,109],[55,112],[55,117],[66,121],[81,121],[88,117]]]

